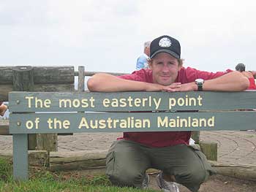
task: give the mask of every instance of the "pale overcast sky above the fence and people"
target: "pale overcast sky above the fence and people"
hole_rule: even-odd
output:
[[[254,1],[1,0],[0,66],[132,72],[143,42],[167,34],[185,66],[256,70]]]

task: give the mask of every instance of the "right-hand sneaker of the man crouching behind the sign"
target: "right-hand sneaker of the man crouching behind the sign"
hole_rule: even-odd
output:
[[[165,191],[165,192],[179,192],[178,183],[167,182],[166,180],[164,180],[162,178],[162,172],[157,174],[156,180],[157,180],[157,185],[159,186],[159,188],[162,189],[162,191]]]

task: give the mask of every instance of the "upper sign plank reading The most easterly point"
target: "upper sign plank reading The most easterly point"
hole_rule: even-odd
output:
[[[47,99],[50,104],[45,107],[41,103]],[[13,92],[10,101],[12,112],[237,110],[256,109],[256,92]]]

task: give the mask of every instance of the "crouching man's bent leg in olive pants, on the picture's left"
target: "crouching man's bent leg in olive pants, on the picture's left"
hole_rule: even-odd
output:
[[[118,140],[113,143],[106,159],[106,174],[113,185],[142,188],[150,161],[145,146]]]

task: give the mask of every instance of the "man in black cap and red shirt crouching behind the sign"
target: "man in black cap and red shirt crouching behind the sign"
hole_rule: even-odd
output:
[[[102,92],[243,91],[249,85],[240,72],[203,72],[184,68],[182,61],[178,40],[158,37],[151,42],[150,69],[120,77],[95,74],[87,85],[90,91]],[[180,183],[195,192],[214,170],[203,153],[188,145],[190,135],[190,131],[124,133],[110,147],[106,174],[114,185],[144,188],[146,169],[159,169],[160,188],[177,192]]]

